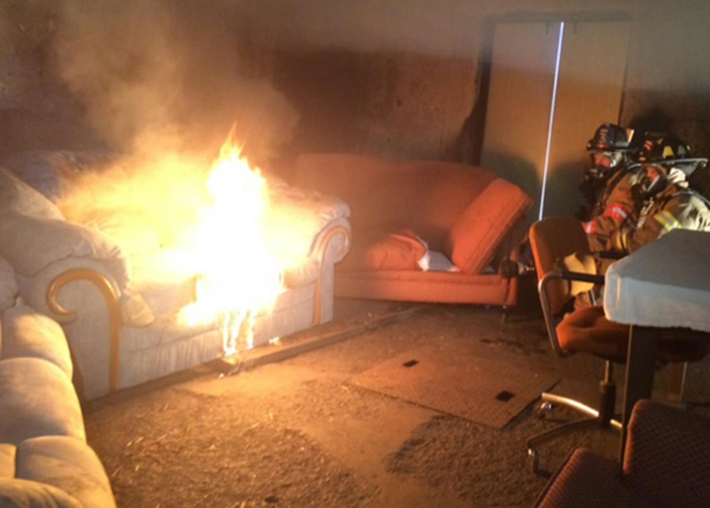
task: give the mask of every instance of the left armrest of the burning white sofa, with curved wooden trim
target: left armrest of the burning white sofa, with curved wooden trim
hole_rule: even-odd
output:
[[[98,230],[13,211],[0,214],[0,237],[21,296],[64,326],[87,396],[114,389],[130,271],[120,248]]]

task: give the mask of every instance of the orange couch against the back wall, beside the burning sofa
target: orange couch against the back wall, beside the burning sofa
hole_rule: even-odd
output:
[[[294,178],[297,186],[337,196],[350,206],[353,248],[336,270],[337,297],[502,306],[517,302],[517,280],[503,279],[491,267],[503,258],[518,259],[523,216],[532,199],[493,172],[452,162],[303,154],[295,162]],[[364,244],[383,238],[383,231],[413,231],[459,271],[352,262],[358,253],[369,253],[372,263],[373,248]],[[377,243],[380,253],[386,243]],[[401,254],[387,260],[399,260]]]

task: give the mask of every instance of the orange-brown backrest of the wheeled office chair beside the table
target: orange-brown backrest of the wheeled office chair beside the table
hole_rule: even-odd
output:
[[[578,219],[570,216],[547,217],[530,227],[530,247],[535,258],[537,278],[559,270],[559,260],[570,254],[588,255],[589,242]],[[552,280],[547,284],[547,299],[552,314],[557,314],[570,298],[572,285],[566,280]]]

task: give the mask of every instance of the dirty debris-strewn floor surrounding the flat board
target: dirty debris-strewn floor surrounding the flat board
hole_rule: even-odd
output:
[[[338,320],[352,324],[392,308],[342,301]],[[555,392],[594,404],[599,360],[556,358],[534,304],[505,324],[500,318],[498,309],[433,306],[237,375],[203,366],[124,390],[86,408],[89,443],[126,508],[528,507],[546,480],[530,473],[526,439],[577,415],[555,409],[540,420],[531,404],[497,430],[348,383],[394,355],[436,344],[557,372]],[[694,365],[692,395],[702,394],[709,370]],[[659,394],[666,380],[661,370]],[[616,437],[594,430],[559,439],[542,450],[542,465],[554,470],[575,446],[613,455]]]

